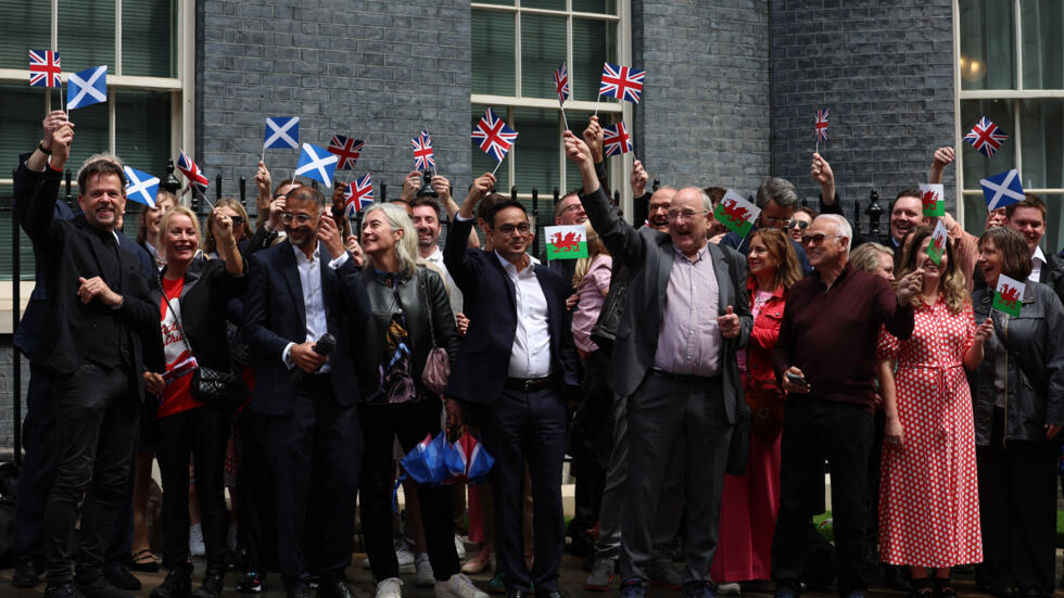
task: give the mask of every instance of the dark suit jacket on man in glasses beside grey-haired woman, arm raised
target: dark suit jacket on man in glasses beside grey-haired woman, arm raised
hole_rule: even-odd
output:
[[[463,309],[469,317],[469,330],[454,360],[445,394],[468,403],[490,404],[498,398],[506,382],[517,331],[517,300],[514,282],[495,252],[466,249],[473,224],[474,220],[455,218],[443,249],[443,263],[461,289]],[[547,300],[550,377],[555,392],[565,396],[566,385],[580,385],[572,330],[565,323],[569,284],[545,266],[534,268]]]

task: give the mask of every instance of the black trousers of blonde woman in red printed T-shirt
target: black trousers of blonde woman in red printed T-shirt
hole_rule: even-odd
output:
[[[189,462],[195,457],[195,491],[200,499],[207,571],[226,567],[225,462],[229,412],[197,407],[159,418],[155,450],[163,478],[163,564],[174,569],[189,560]]]

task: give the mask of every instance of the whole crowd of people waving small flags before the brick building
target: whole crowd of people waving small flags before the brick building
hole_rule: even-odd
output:
[[[157,459],[152,598],[218,598],[232,569],[238,591],[277,572],[291,597],[349,598],[356,530],[377,598],[401,598],[404,573],[438,598],[560,598],[567,544],[585,589],[618,580],[622,598],[757,582],[797,598],[836,573],[861,598],[876,568],[953,598],[971,564],[999,598],[1053,591],[1064,263],[1041,249],[1038,196],[975,237],[908,189],[870,238],[814,154],[818,209],[769,178],[743,237],[713,216],[723,188],[651,192],[636,162],[633,226],[592,117],[563,133],[581,188],[553,215],[584,227],[580,259],[532,255],[536,224],[491,174],[459,204],[445,177],[427,194],[410,173],[352,230],[343,183],[275,186],[262,163],[256,222],[228,199],[201,222],[160,192],[135,242],[118,157],[80,165],[72,211],[74,124],[53,112],[42,128],[14,179],[37,263],[15,335],[31,371],[15,586],[140,589],[130,570],[160,567]],[[952,161],[937,150],[928,182]],[[993,307],[1001,276],[1026,281],[1018,315]],[[397,461],[441,434],[482,441],[487,484],[405,479]],[[813,525],[825,472],[834,547]],[[487,588],[468,576],[493,568]]]

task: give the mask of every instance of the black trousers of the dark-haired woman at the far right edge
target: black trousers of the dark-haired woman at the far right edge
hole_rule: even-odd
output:
[[[1003,441],[997,409],[987,446],[975,447],[979,474],[983,563],[978,578],[991,588],[1052,594],[1056,565],[1056,442]]]

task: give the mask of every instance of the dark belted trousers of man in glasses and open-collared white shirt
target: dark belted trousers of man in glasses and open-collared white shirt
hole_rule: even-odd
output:
[[[535,584],[537,593],[559,591],[558,565],[566,542],[561,510],[566,404],[550,389],[504,390],[494,403],[479,406],[476,417],[484,432],[484,447],[495,458],[491,474],[495,539],[506,589],[529,591]],[[524,563],[521,523],[525,462],[532,478],[532,571]]]

